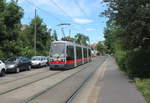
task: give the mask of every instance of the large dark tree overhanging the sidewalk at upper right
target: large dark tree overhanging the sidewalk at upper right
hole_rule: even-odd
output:
[[[109,9],[103,14],[115,20],[122,28],[120,36],[127,49],[142,48],[150,44],[149,0],[104,0]]]

